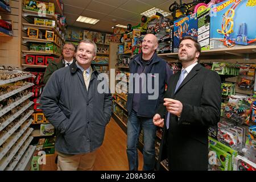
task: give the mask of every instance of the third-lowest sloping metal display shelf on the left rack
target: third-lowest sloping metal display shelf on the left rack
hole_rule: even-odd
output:
[[[30,126],[30,122],[27,123],[27,125],[19,131],[19,133],[15,134],[13,137],[10,137],[9,140],[7,140],[7,144],[5,148],[2,149],[0,154],[0,160],[7,154],[7,152],[10,150],[11,147],[13,147],[14,143],[22,136],[23,133],[27,130],[27,128]],[[32,132],[32,128],[28,129],[28,133],[30,134]]]

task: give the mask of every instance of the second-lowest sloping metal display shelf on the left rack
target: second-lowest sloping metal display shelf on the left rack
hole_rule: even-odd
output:
[[[26,140],[27,139],[27,140]],[[29,137],[26,135],[23,139],[20,140],[20,142],[13,148],[10,155],[7,158],[3,158],[3,160],[0,163],[0,170],[3,171],[8,166],[8,164],[11,162],[15,154],[18,152],[19,148],[24,144],[24,147],[28,147],[30,142],[32,141],[33,137]],[[23,147],[22,147],[23,148]],[[14,160],[15,161],[15,160]],[[14,166],[15,167],[15,166]]]

